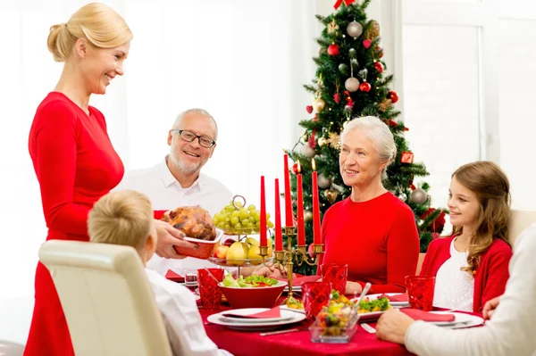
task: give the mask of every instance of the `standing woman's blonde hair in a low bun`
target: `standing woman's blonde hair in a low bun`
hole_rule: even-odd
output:
[[[65,62],[79,38],[85,38],[89,46],[113,48],[132,40],[129,26],[111,7],[92,3],[74,12],[67,23],[50,28],[46,46],[54,61]]]

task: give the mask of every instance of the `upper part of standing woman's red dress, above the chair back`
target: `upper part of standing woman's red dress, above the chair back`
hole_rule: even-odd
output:
[[[88,240],[88,212],[121,181],[121,158],[104,115],[89,115],[58,92],[39,105],[29,132],[29,154],[41,187],[47,239]]]

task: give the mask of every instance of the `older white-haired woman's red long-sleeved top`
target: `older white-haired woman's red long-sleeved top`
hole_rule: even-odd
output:
[[[370,294],[406,292],[405,277],[415,275],[419,236],[414,213],[389,192],[333,205],[322,221],[322,239],[322,263],[348,264],[348,281],[370,282]]]

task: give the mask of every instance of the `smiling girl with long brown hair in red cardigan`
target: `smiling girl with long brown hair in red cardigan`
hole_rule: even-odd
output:
[[[481,312],[505,291],[508,262],[510,188],[493,162],[465,164],[452,175],[448,210],[452,236],[431,242],[422,276],[435,276],[433,305]]]

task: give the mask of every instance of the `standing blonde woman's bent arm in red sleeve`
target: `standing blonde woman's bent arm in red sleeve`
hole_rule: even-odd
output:
[[[73,203],[77,164],[75,117],[63,103],[48,103],[33,139],[32,159],[41,187],[46,227],[64,234],[88,235],[87,206]]]

